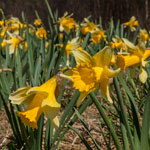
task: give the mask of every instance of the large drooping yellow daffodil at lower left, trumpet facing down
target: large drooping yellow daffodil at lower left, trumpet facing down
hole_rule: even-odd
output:
[[[10,94],[12,104],[26,104],[28,107],[23,112],[18,112],[21,121],[33,129],[37,129],[37,121],[44,112],[50,119],[53,127],[59,127],[57,114],[60,104],[55,98],[56,77],[52,77],[39,87],[22,87]]]

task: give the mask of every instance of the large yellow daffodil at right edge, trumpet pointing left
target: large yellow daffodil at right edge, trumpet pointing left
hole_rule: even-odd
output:
[[[127,67],[133,66],[131,75],[134,75],[135,69],[140,66],[139,79],[142,83],[145,83],[147,80],[147,72],[143,69],[146,65],[146,59],[150,56],[150,49],[146,49],[142,43],[139,45],[134,45],[127,39],[123,39],[127,45],[128,51],[130,54],[122,55],[119,54],[116,58],[116,64],[122,71],[125,71]]]

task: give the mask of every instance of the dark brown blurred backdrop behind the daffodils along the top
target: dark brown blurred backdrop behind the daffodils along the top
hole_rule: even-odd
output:
[[[48,0],[52,11],[58,10],[58,16],[64,12],[74,14],[76,20],[92,16],[92,19],[102,17],[103,24],[107,24],[113,17],[114,22],[120,19],[121,23],[135,16],[141,27],[149,28],[150,24],[150,1],[149,0]],[[5,16],[21,18],[24,12],[29,23],[36,18],[35,10],[39,13],[43,23],[48,27],[48,10],[43,0],[1,0],[0,8]]]

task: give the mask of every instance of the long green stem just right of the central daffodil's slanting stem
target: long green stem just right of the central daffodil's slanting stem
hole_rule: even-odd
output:
[[[121,112],[122,112],[122,115],[123,115],[123,118],[124,118],[124,123],[125,123],[126,129],[127,129],[127,134],[129,136],[129,141],[131,143],[132,150],[135,150],[135,145],[134,145],[134,142],[133,142],[133,137],[132,137],[132,134],[131,134],[129,123],[128,123],[127,114],[125,112],[123,98],[122,98],[122,95],[121,95],[120,86],[119,86],[117,77],[114,77],[114,86],[115,86],[116,94],[117,94],[117,97],[118,97],[118,102],[120,104]]]

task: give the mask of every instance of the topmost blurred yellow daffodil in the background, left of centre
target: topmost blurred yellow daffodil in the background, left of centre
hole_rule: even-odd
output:
[[[59,30],[61,32],[64,31],[66,33],[69,33],[70,30],[74,28],[75,20],[71,18],[72,15],[73,14],[68,16],[68,12],[66,12],[63,17],[59,18],[58,24],[60,25]]]

